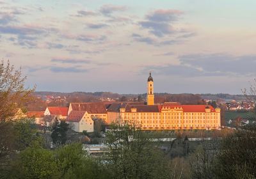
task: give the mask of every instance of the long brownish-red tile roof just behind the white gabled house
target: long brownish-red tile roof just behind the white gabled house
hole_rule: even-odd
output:
[[[72,111],[87,111],[89,114],[107,113],[103,102],[71,103]]]

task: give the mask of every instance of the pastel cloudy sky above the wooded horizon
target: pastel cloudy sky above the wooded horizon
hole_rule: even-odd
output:
[[[0,0],[0,57],[36,91],[241,94],[255,0]]]

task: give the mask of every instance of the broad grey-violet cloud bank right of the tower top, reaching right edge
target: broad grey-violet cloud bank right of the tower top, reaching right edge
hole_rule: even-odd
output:
[[[180,77],[255,76],[256,55],[189,54],[179,57],[180,65],[147,66],[143,72],[153,70],[160,75]]]

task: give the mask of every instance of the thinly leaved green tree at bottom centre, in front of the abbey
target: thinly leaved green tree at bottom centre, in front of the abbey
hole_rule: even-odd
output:
[[[106,138],[109,146],[107,159],[113,178],[170,177],[164,153],[140,130],[140,125],[124,121],[112,123]]]

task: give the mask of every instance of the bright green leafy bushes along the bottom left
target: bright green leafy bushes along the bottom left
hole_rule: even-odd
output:
[[[8,178],[111,178],[106,167],[88,157],[78,143],[54,151],[29,147],[15,160],[12,171]]]

